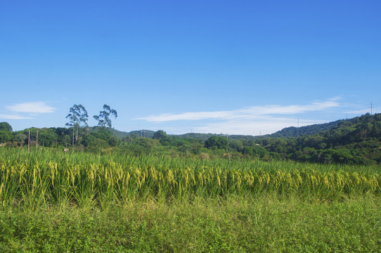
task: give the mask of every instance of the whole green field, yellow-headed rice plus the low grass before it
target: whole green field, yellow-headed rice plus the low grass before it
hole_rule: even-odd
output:
[[[0,252],[381,252],[380,167],[0,149]]]

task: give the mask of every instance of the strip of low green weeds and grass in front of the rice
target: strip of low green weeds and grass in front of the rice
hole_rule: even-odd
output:
[[[380,252],[381,200],[135,203],[2,210],[0,252]]]

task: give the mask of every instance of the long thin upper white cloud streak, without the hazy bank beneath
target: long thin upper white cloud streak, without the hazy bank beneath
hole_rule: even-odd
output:
[[[339,106],[338,98],[332,98],[323,102],[314,102],[309,105],[265,105],[250,106],[238,110],[226,110],[216,112],[183,112],[179,114],[166,113],[162,115],[150,115],[138,117],[148,122],[171,122],[175,120],[238,120],[238,119],[260,119],[265,115],[296,115],[303,112],[319,111]]]

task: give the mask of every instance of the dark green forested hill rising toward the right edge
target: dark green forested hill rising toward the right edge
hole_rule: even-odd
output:
[[[366,114],[318,134],[290,138],[264,138],[259,143],[269,152],[308,162],[381,162],[381,115]]]

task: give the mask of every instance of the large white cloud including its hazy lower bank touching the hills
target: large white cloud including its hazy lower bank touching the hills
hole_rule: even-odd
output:
[[[323,120],[303,119],[306,112],[325,112],[340,106],[339,97],[325,101],[312,102],[306,105],[264,105],[249,106],[238,110],[215,112],[183,112],[179,114],[166,113],[139,117],[147,122],[165,124],[166,122],[195,121],[188,126],[179,126],[176,130],[166,126],[161,129],[173,134],[184,134],[190,131],[197,133],[228,133],[259,135],[271,134],[288,126],[306,126],[325,123]],[[173,123],[174,124],[174,123]]]

